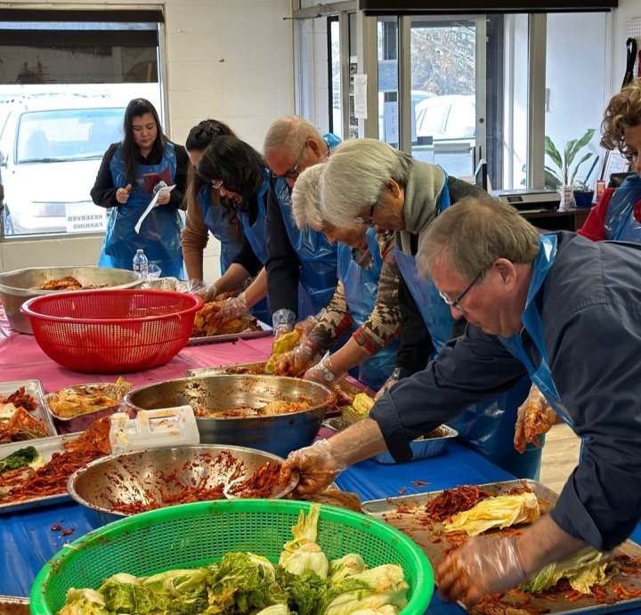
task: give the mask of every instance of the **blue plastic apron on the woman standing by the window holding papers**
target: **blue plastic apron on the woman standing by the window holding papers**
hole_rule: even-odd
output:
[[[136,179],[124,205],[111,210],[107,223],[105,239],[98,262],[101,267],[132,269],[132,261],[137,249],[144,250],[149,262],[158,263],[163,277],[173,276],[183,279],[183,250],[181,247],[181,230],[183,222],[175,209],[156,206],[142,222],[140,233],[134,229],[135,224],[150,204],[153,195],[144,189],[143,174],[160,174],[169,169],[171,181],[176,174],[176,157],[174,145],[166,143],[165,153],[158,165],[137,165]],[[126,177],[125,159],[122,146],[119,145],[110,162],[111,177],[115,188],[125,188],[129,181]]]

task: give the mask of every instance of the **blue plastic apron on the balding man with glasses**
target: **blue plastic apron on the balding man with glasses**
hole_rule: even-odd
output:
[[[334,150],[340,139],[334,134],[324,134],[329,151]],[[320,231],[305,227],[299,230],[291,213],[291,188],[280,178],[274,186],[283,223],[289,241],[300,262],[298,279],[298,320],[316,315],[329,303],[337,287],[337,246]]]

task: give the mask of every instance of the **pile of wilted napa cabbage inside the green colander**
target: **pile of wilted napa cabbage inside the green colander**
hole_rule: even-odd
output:
[[[313,504],[308,517],[301,511],[281,554],[286,565],[228,553],[205,568],[140,579],[119,573],[97,591],[69,589],[58,615],[396,615],[407,604],[402,568],[368,569],[359,554],[328,562],[316,544],[320,509]]]

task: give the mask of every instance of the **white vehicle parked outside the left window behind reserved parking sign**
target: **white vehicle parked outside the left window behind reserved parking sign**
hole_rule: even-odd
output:
[[[122,138],[125,107],[72,93],[20,96],[2,107],[4,234],[102,231],[106,210],[89,191],[105,150]]]

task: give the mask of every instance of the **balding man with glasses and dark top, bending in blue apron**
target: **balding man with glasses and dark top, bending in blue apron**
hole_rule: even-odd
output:
[[[264,157],[272,169],[266,270],[276,338],[296,320],[320,312],[337,287],[337,247],[319,231],[296,227],[291,190],[298,175],[327,158],[338,142],[296,116],[276,119],[265,136]]]

